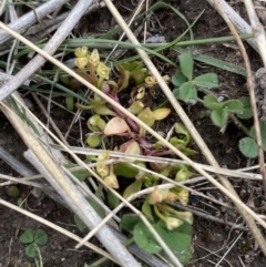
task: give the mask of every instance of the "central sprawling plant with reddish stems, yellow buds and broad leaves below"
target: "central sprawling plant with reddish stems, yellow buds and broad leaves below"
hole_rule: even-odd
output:
[[[100,55],[96,50],[90,53],[85,48],[79,48],[75,51],[75,65],[79,68],[78,73],[108,94],[116,103],[121,103],[120,97],[123,90],[131,91],[129,92],[131,99],[127,110],[150,127],[153,127],[156,122],[163,121],[170,115],[171,109],[154,107],[146,103],[145,100],[150,97],[151,91],[155,90],[157,81],[154,76],[149,76],[147,70],[142,62],[134,61],[119,65],[119,78],[112,80],[110,69],[100,61]],[[91,61],[93,61],[93,63]],[[168,82],[170,78],[166,75],[164,80]],[[190,80],[192,81],[192,78]],[[194,83],[194,81],[200,84],[201,78],[194,79],[192,82]],[[72,81],[71,84],[75,83]],[[161,142],[153,143],[143,127],[139,126],[133,120],[121,113],[115,106],[106,103],[96,94],[89,97],[89,105],[76,103],[75,106],[92,113],[86,122],[90,131],[86,143],[90,147],[98,147],[108,142],[110,137],[119,136],[120,140],[122,140],[121,137],[127,138],[127,141],[123,141],[120,146],[115,147],[119,152],[136,156],[163,157],[173,155],[173,152]],[[174,124],[174,131],[168,141],[188,156],[196,154],[196,151],[190,147],[193,143],[191,134],[181,123]],[[124,198],[140,192],[142,188],[154,187],[153,192],[146,195],[142,205],[142,212],[168,247],[173,249],[176,257],[183,259],[183,263],[187,263],[191,258],[190,243],[193,215],[190,212],[176,210],[171,206],[171,203],[178,201],[183,205],[186,205],[188,202],[188,191],[181,186],[175,186],[172,189],[160,189],[157,186],[162,184],[162,179],[158,178],[157,175],[142,171],[133,164],[143,170],[152,170],[176,182],[193,177],[195,175],[193,171],[184,164],[145,163],[134,160],[106,164],[105,162],[109,160],[111,160],[111,156],[108,151],[103,151],[98,157],[88,156],[89,162],[96,163],[96,173],[104,181],[105,185],[114,189],[120,189],[120,178],[129,181],[127,187],[121,193]],[[96,196],[100,196],[103,189],[103,187],[100,186],[99,188],[95,194]],[[115,195],[108,192],[108,203],[110,207],[114,208],[120,204],[120,201]],[[101,212],[98,205],[95,209],[98,213]],[[88,228],[76,215],[74,216],[74,222],[81,232],[88,232]],[[124,219],[122,219],[122,225],[125,224]],[[121,227],[124,228],[123,226]],[[134,242],[141,248],[149,253],[160,253],[166,257],[155,242],[154,247],[150,246],[151,244],[145,245],[149,240],[153,244],[154,239],[152,237],[150,238],[149,235],[151,234],[147,234],[150,232],[144,228],[143,223],[139,220],[133,228]],[[141,237],[142,230],[146,232],[146,236]],[[175,236],[181,243],[173,243],[173,237],[171,236]]]

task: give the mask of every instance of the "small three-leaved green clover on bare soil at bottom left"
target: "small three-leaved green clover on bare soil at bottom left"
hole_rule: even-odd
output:
[[[33,232],[31,228],[28,228],[21,236],[20,242],[27,244],[25,254],[30,258],[33,258],[35,266],[43,267],[41,250],[39,246],[43,246],[48,242],[47,233],[42,229]]]

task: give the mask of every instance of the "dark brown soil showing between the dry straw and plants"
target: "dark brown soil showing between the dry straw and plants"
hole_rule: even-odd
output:
[[[120,11],[125,16],[125,18],[132,14],[131,10],[133,10],[134,7],[129,3],[130,1],[121,0],[115,2],[116,6],[120,7]],[[229,30],[223,22],[223,19],[213,10],[213,8],[206,3],[206,1],[197,1],[196,4],[193,0],[166,2],[177,7],[190,22],[192,22],[202,10],[205,10],[196,25],[193,28],[195,39],[229,35]],[[246,16],[242,3],[235,3],[234,8],[239,10],[244,17]],[[158,33],[164,35],[166,41],[172,41],[185,30],[185,24],[170,10],[155,11],[154,17],[152,17],[152,22],[153,28],[157,29]],[[101,28],[95,28],[95,24],[98,23],[100,23]],[[102,32],[106,32],[113,24],[114,21],[112,20],[109,11],[101,10],[85,17],[81,21],[80,28],[78,28],[76,31],[80,31],[82,34],[102,34]],[[99,29],[99,31],[95,32],[95,29]],[[247,44],[245,44],[245,47],[252,60],[252,69],[253,71],[256,71],[262,65],[259,57]],[[225,44],[202,45],[195,47],[194,49],[203,54],[223,59],[239,65],[243,64],[243,59],[239,50],[227,47]],[[164,53],[173,59],[176,59],[177,55],[173,53],[173,51],[171,51],[171,53],[167,51]],[[157,63],[162,72],[164,72],[163,74],[174,72],[174,70],[168,65],[162,64],[161,62]],[[226,99],[236,99],[243,95],[247,95],[247,91],[245,89],[245,78],[218,69],[209,68],[205,64],[196,63],[195,75],[205,72],[215,72],[218,74],[221,88],[216,92],[225,95]],[[124,97],[126,99],[126,96]],[[160,102],[160,100],[161,97],[158,96],[156,101]],[[244,135],[233,123],[229,123],[226,132],[222,134],[219,130],[213,125],[208,117],[202,119],[198,116],[202,110],[201,105],[190,107],[186,105],[183,106],[190,114],[191,119],[195,123],[196,129],[202,134],[206,144],[214,153],[215,157],[222,166],[225,165],[228,168],[246,166],[247,161],[239,154],[237,148],[237,143]],[[38,109],[35,109],[34,112],[40,114]],[[64,113],[63,111],[60,111],[60,113],[54,112],[54,114],[58,117],[55,121],[59,123],[62,122],[63,119],[65,121],[71,121],[68,113]],[[173,115],[170,119],[168,124],[175,120],[178,119]],[[59,126],[65,127],[66,123],[61,123]],[[25,151],[25,146],[22,144],[20,137],[2,114],[0,114],[0,129],[2,130],[0,131],[0,141],[3,143],[3,147],[20,161],[24,162],[22,153]],[[162,130],[165,131],[165,127],[162,127]],[[63,129],[62,131],[64,132],[66,129]],[[75,137],[76,133],[72,133],[71,136]],[[71,143],[78,145],[79,142],[75,138],[72,138]],[[200,162],[205,162],[202,157],[198,157],[197,160]],[[18,176],[18,174],[9,166],[7,166],[1,160],[0,170],[2,174]],[[259,214],[265,214],[265,208],[263,206],[265,205],[266,199],[262,195],[260,184],[255,182],[247,183],[237,179],[232,179],[232,183],[236,187],[244,203],[254,203],[254,209]],[[29,194],[30,188],[27,186],[19,187],[24,194]],[[211,184],[204,184],[200,187],[203,193],[209,194],[225,203],[229,203],[229,201]],[[6,187],[0,187],[0,197],[11,203],[16,203],[14,198],[11,198],[7,195]],[[226,226],[226,222],[241,223],[242,219],[238,218],[238,213],[234,208],[223,209],[221,206],[202,198],[200,203],[192,204],[192,207],[225,220],[225,225],[223,225],[205,219],[203,217],[195,216],[192,244],[194,253],[192,263],[187,266],[214,266],[219,260],[219,258],[225,255],[232,243],[241,233],[239,230],[234,230]],[[72,214],[68,209],[61,207],[59,204],[54,203],[48,196],[42,201],[39,201],[30,195],[28,198],[27,208],[55,224],[61,226],[63,225],[63,227],[70,232],[79,234],[79,230],[74,226]],[[70,240],[55,230],[50,229],[30,218],[27,218],[23,215],[12,212],[9,208],[0,206],[0,267],[34,266],[33,261],[25,256],[24,245],[19,242],[19,236],[28,227],[33,229],[42,228],[48,234],[49,242],[41,248],[44,266],[82,267],[85,263],[93,263],[98,258],[95,254],[85,248],[75,250],[75,243],[73,240]],[[94,240],[94,243],[96,244],[96,240]],[[241,260],[244,263],[244,265],[242,265]],[[221,264],[221,266],[263,267],[266,266],[266,259],[259,253],[259,249],[257,248],[256,244],[254,244],[249,233],[246,232],[226,255],[225,260]]]

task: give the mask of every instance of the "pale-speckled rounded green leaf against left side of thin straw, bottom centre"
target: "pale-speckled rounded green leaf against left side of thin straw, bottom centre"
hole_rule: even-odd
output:
[[[137,223],[134,227],[134,242],[146,253],[154,254],[162,249],[143,222]]]

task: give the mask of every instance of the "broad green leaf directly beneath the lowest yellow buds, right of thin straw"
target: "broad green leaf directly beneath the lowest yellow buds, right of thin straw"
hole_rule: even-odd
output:
[[[184,222],[180,227],[170,232],[166,229],[165,223],[160,220],[155,225],[155,229],[176,258],[178,258],[183,265],[188,264],[192,258],[192,226]],[[164,250],[161,250],[158,254],[172,261]]]

